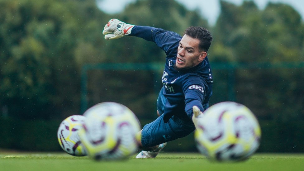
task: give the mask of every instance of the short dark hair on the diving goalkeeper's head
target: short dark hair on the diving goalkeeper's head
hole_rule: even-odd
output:
[[[208,51],[211,41],[213,40],[211,33],[203,27],[189,27],[185,30],[185,35],[200,41],[199,48],[205,52]]]

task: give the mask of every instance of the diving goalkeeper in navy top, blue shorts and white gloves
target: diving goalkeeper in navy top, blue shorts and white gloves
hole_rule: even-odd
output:
[[[111,19],[102,32],[106,40],[136,36],[154,42],[167,55],[161,78],[163,88],[157,99],[158,118],[145,125],[141,151],[136,158],[154,158],[168,141],[189,135],[197,118],[209,107],[212,72],[207,58],[210,32],[189,27],[184,36],[149,26],[135,26]]]

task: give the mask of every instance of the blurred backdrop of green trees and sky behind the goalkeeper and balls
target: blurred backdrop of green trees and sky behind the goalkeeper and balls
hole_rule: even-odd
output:
[[[117,18],[181,35],[207,28],[210,105],[249,107],[262,128],[258,152],[303,153],[304,14],[294,2],[0,0],[0,150],[62,151],[60,122],[99,102],[126,105],[142,126],[157,117],[166,55],[140,38],[104,40]],[[193,134],[164,151],[197,151]]]

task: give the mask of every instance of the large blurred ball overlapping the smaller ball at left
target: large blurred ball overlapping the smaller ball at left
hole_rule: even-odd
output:
[[[123,159],[137,151],[140,123],[126,106],[103,102],[89,108],[79,136],[93,159]]]

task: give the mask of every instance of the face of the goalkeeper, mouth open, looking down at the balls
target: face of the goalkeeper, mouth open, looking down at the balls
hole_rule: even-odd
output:
[[[179,42],[175,67],[177,69],[188,69],[196,66],[205,59],[207,53],[199,50],[199,40],[184,35]]]

